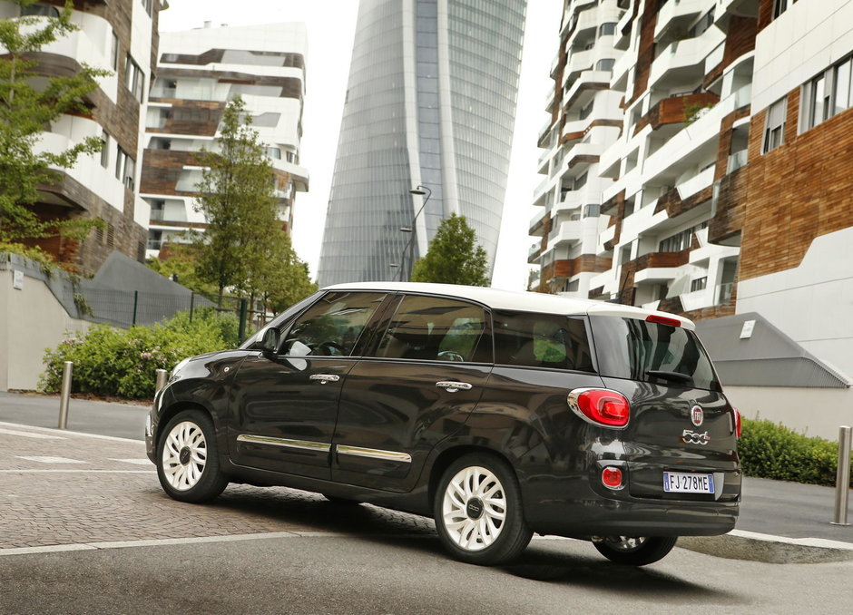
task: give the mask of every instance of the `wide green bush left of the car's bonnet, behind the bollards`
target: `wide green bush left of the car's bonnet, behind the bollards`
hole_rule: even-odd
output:
[[[171,371],[184,357],[233,347],[237,328],[236,317],[212,308],[195,310],[192,322],[189,313],[180,312],[153,327],[125,331],[95,325],[45,350],[39,387],[58,392],[64,362],[74,361],[73,393],[151,398],[157,369]]]

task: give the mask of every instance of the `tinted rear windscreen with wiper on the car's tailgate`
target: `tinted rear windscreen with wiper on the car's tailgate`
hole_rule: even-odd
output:
[[[602,376],[720,391],[692,331],[635,318],[590,317]]]

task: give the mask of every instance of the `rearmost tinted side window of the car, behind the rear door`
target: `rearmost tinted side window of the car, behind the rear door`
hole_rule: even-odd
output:
[[[586,320],[495,311],[495,363],[594,372]]]

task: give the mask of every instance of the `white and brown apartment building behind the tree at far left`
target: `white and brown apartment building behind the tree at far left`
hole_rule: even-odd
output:
[[[0,18],[58,15],[60,0],[22,8],[0,1]],[[59,237],[34,243],[82,273],[93,273],[113,250],[142,261],[149,220],[139,198],[137,161],[142,155],[145,100],[158,44],[157,17],[165,0],[93,0],[74,3],[72,22],[79,29],[44,46],[34,59],[45,76],[80,70],[83,63],[112,71],[98,79],[86,97],[91,113],[66,115],[44,131],[39,147],[65,151],[88,137],[103,141],[97,156],[81,156],[74,168],[58,171],[60,180],[40,190],[34,210],[44,220],[100,218],[82,245]]]

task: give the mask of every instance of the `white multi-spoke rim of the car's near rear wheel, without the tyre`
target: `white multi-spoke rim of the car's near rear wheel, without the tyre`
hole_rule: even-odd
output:
[[[481,551],[504,529],[504,486],[487,468],[463,468],[447,483],[441,514],[447,535],[456,546],[467,552]]]

